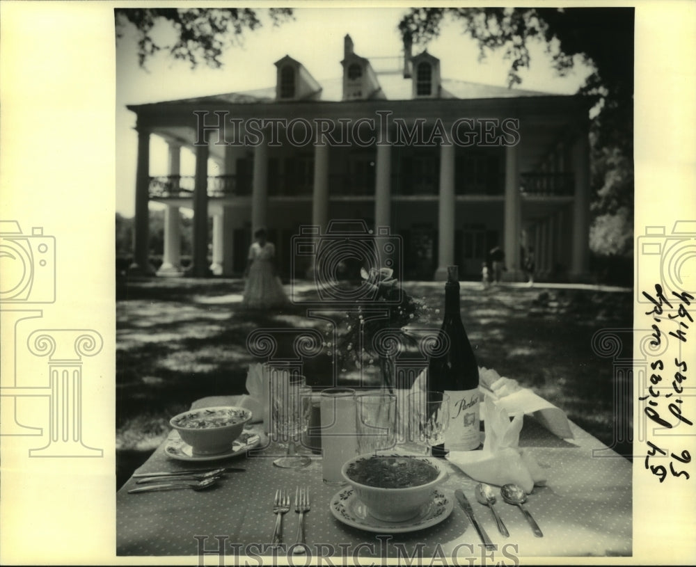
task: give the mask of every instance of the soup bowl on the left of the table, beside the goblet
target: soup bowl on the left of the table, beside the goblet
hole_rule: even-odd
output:
[[[251,410],[239,406],[215,406],[184,411],[169,420],[193,454],[226,452],[251,420]]]

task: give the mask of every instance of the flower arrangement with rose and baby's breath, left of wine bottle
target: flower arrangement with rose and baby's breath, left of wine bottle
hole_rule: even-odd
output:
[[[430,308],[425,298],[404,292],[393,274],[390,268],[362,268],[363,299],[345,311],[335,329],[327,327],[324,342],[327,353],[335,355],[340,372],[379,365],[383,386],[390,391],[393,372],[386,367],[389,360],[406,345],[418,346],[418,327],[431,323],[432,314],[440,311]]]

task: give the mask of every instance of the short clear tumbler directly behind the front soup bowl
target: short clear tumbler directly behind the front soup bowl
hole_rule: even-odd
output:
[[[396,396],[368,393],[356,397],[358,452],[374,453],[396,445]]]

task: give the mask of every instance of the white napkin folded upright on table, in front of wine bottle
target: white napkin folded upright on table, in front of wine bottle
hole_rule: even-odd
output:
[[[480,451],[450,451],[448,461],[469,477],[488,484],[519,484],[526,493],[534,485],[546,484],[546,475],[536,459],[519,448],[523,414],[510,420],[505,408],[486,397],[482,404],[486,415],[486,438]]]

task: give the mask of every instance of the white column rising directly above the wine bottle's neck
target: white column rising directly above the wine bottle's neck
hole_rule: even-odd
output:
[[[435,280],[447,279],[454,264],[454,145],[440,146],[440,202],[438,210],[438,267]]]

